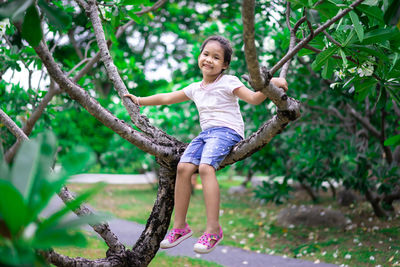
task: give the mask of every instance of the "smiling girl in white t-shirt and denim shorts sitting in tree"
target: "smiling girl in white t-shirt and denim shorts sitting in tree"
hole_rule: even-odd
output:
[[[148,97],[125,95],[140,106],[169,105],[193,100],[199,111],[202,132],[189,144],[178,167],[175,184],[175,219],[170,233],[161,242],[161,248],[171,248],[192,235],[186,223],[186,213],[191,195],[191,176],[199,171],[206,205],[207,226],[205,233],[194,245],[197,253],[209,253],[221,242],[219,225],[220,193],[215,171],[229,154],[231,148],[244,138],[244,123],[238,98],[258,105],[266,99],[261,92],[253,92],[240,80],[223,74],[230,64],[232,48],[227,39],[211,36],[204,41],[198,57],[203,74],[201,82],[184,89]],[[287,90],[285,79],[273,78],[276,86]]]

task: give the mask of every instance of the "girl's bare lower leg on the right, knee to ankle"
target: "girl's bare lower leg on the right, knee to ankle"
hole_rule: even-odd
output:
[[[209,234],[219,234],[220,194],[215,169],[208,164],[200,164],[199,174],[203,185],[204,202],[206,204],[206,232]]]

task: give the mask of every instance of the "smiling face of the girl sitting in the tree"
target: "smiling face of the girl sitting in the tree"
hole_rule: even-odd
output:
[[[217,41],[209,41],[198,58],[199,68],[203,76],[219,75],[228,68],[224,61],[224,49]]]

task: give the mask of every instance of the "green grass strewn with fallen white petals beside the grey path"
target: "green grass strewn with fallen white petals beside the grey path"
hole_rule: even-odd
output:
[[[286,206],[312,204],[304,194],[296,193],[296,198],[281,206],[262,204],[254,199],[251,191],[243,196],[229,195],[229,187],[237,184],[234,180],[220,180],[220,220],[225,233],[223,245],[314,262],[348,266],[400,266],[400,207],[396,207],[397,215],[394,218],[381,220],[374,217],[368,203],[340,207],[329,196],[325,196],[318,205],[341,210],[351,220],[350,226],[346,229],[286,228],[276,224],[276,215]],[[74,184],[69,187],[71,191],[79,192],[89,186]],[[90,204],[98,210],[110,211],[116,217],[144,224],[155,198],[156,191],[149,185],[108,185],[104,193],[94,197]],[[204,231],[205,207],[201,190],[196,190],[192,197],[188,222],[195,235],[199,236]],[[96,246],[89,247],[89,250],[98,249]],[[104,255],[105,251],[100,257]],[[156,263],[159,257],[166,262],[170,258],[158,253],[153,262]],[[204,263],[190,262],[189,259],[183,260],[187,261],[175,266],[207,266],[196,265]]]

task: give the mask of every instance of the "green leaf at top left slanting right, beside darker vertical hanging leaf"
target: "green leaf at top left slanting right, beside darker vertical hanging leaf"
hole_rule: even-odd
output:
[[[71,17],[62,9],[39,0],[39,7],[49,20],[49,24],[59,31],[66,31],[71,25]]]

